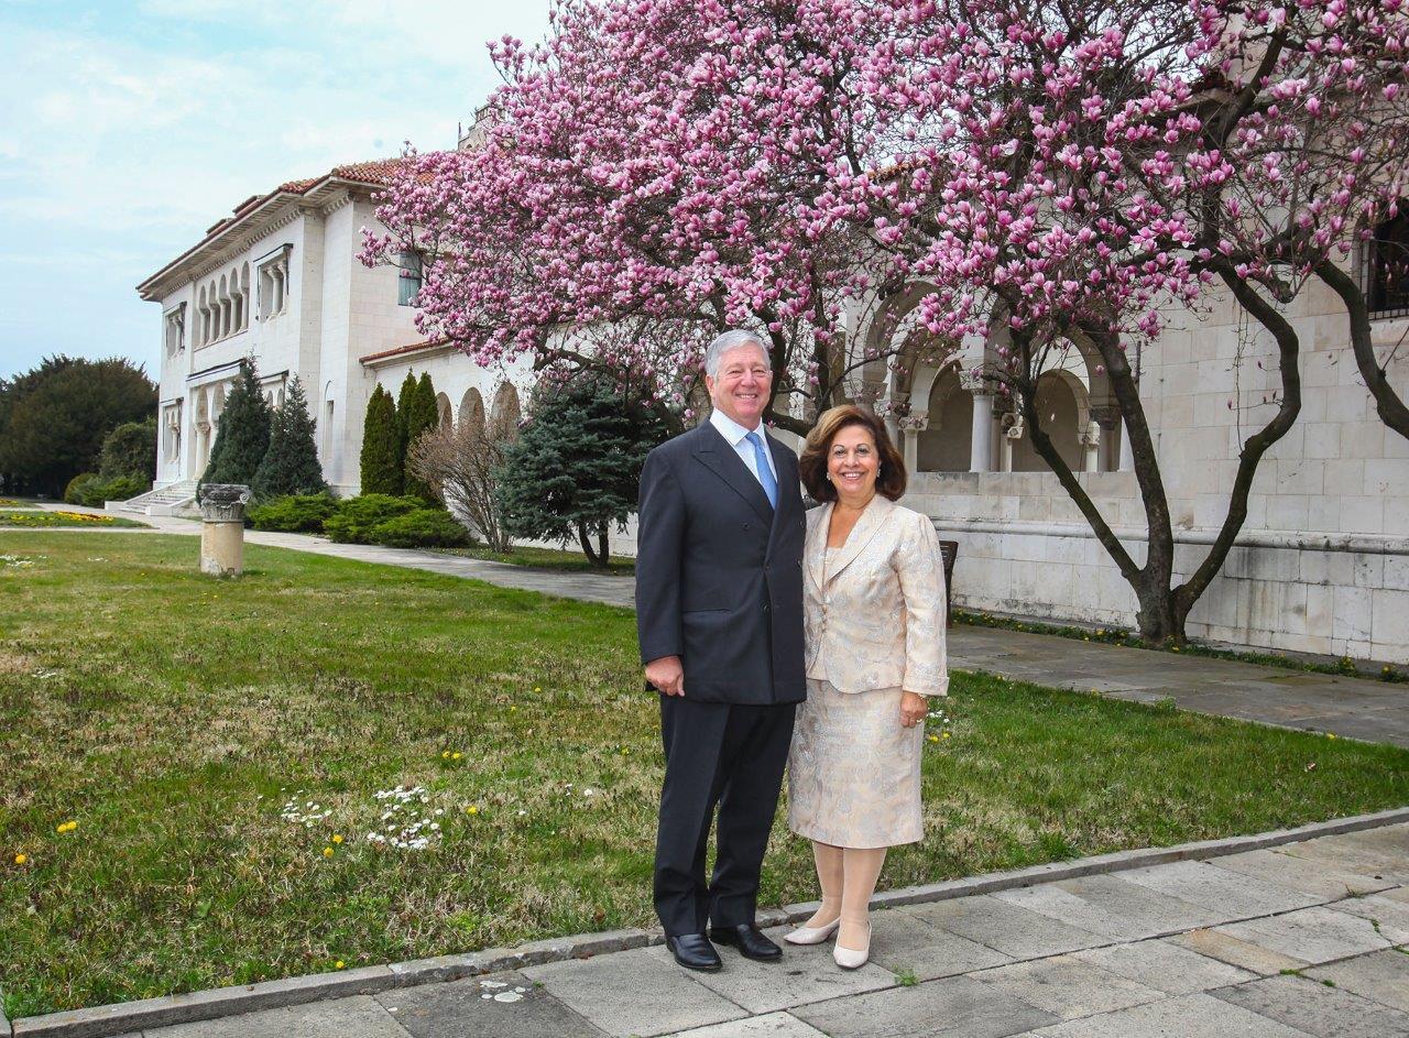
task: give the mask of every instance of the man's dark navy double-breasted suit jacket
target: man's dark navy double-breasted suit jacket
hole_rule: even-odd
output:
[[[710,423],[657,446],[641,470],[635,618],[641,662],[679,656],[685,699],[799,703],[802,549],[797,456],[765,437],[778,508]]]

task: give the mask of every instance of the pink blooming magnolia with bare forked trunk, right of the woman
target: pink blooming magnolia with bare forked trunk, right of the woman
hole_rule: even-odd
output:
[[[1301,410],[1301,344],[1282,306],[1312,275],[1358,292],[1336,259],[1403,190],[1409,24],[1398,0],[912,10],[876,92],[900,162],[852,190],[869,194],[874,235],[895,262],[936,286],[920,303],[931,331],[988,338],[988,376],[1134,589],[1141,632],[1182,639],[1246,521],[1262,456]],[[1215,542],[1177,583],[1130,355],[1210,284],[1275,342],[1275,383],[1251,408]],[[1124,421],[1148,524],[1143,562],[1043,428],[1038,379],[1071,349]]]

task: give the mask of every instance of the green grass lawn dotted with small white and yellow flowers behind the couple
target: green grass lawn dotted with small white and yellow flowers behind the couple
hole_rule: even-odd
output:
[[[11,1018],[652,923],[628,611],[259,545],[214,580],[182,537],[0,551],[32,561],[0,566]],[[945,710],[885,886],[1409,803],[1391,746],[967,673]],[[812,896],[779,827],[761,901]]]

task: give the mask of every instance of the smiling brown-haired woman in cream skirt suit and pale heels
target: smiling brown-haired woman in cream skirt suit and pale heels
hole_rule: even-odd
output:
[[[821,415],[799,459],[807,513],[807,701],[788,761],[788,825],[813,841],[821,907],[792,944],[837,934],[837,963],[871,948],[867,906],[888,846],[923,837],[926,697],[948,692],[944,566],[934,525],[895,500],[905,463],[859,407]]]

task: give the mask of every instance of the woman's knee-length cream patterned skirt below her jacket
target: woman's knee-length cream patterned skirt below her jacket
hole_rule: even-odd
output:
[[[923,749],[924,725],[900,725],[900,689],[847,694],[809,677],[788,756],[788,827],[833,846],[917,842]]]

